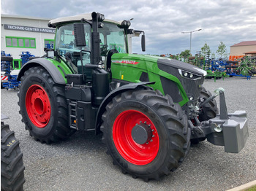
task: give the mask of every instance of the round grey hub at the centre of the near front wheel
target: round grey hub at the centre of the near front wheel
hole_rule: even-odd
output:
[[[152,132],[149,125],[146,122],[136,124],[132,128],[132,139],[138,144],[146,144],[151,140]]]

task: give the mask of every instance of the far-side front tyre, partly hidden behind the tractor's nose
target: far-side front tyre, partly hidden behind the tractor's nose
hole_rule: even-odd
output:
[[[208,90],[206,90],[205,87],[203,87],[202,90],[200,91],[200,96],[198,99],[199,104],[203,101],[206,101],[206,99],[210,97],[211,97],[211,93]],[[198,119],[200,121],[207,121],[216,117],[218,113],[219,113],[219,109],[217,107],[217,102],[214,99],[213,101],[209,101],[208,104],[200,108],[200,114]]]

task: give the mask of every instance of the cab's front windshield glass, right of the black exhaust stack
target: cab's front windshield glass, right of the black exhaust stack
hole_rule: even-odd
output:
[[[116,49],[119,53],[127,53],[124,29],[113,23],[104,23],[103,28],[99,28],[100,53],[107,55],[108,50]]]

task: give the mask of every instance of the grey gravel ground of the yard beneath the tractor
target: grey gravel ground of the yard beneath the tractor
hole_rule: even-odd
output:
[[[203,141],[190,148],[175,172],[160,181],[143,182],[122,174],[105,154],[101,136],[77,132],[58,144],[41,144],[29,136],[21,122],[18,90],[1,90],[1,113],[20,140],[26,166],[25,190],[227,190],[256,179],[256,77],[206,79],[213,92],[225,88],[228,112],[246,110],[249,139],[239,154]],[[219,98],[217,98],[219,102]]]

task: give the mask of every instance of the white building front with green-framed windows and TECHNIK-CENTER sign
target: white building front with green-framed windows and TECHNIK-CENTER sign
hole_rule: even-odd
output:
[[[1,15],[1,51],[20,59],[21,52],[45,54],[46,44],[53,44],[55,29],[48,27],[50,18]]]

